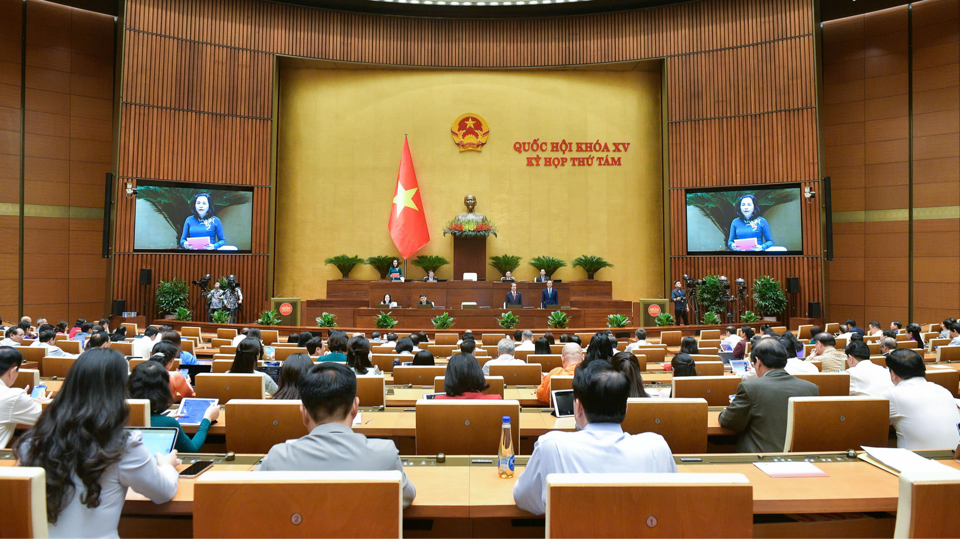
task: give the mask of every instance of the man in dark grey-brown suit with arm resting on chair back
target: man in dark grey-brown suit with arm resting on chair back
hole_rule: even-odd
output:
[[[792,397],[816,396],[817,385],[783,368],[787,351],[776,339],[761,339],[750,351],[756,379],[737,386],[737,394],[720,413],[720,425],[740,434],[737,452],[783,452],[787,439],[787,405]]]

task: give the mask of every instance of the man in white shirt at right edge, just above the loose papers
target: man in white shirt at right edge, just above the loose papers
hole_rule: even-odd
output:
[[[887,356],[895,385],[878,397],[890,401],[890,423],[897,431],[897,447],[951,451],[960,444],[960,411],[949,390],[927,381],[923,357],[909,349]]]

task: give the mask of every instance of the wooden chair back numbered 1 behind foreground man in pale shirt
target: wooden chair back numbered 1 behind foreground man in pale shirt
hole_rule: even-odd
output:
[[[551,474],[546,510],[551,540],[753,538],[753,487],[742,474]]]

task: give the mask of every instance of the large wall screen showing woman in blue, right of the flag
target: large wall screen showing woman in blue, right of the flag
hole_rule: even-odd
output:
[[[687,191],[687,253],[800,255],[800,184]]]

